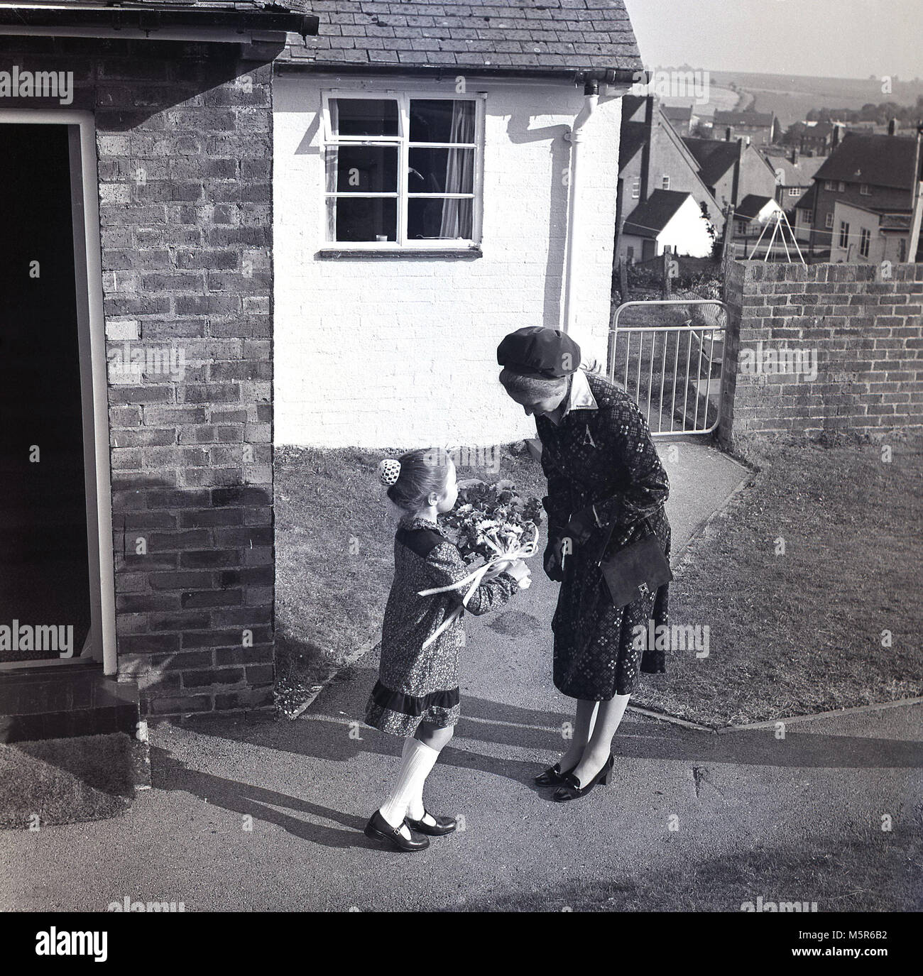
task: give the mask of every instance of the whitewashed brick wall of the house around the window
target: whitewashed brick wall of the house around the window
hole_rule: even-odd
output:
[[[483,256],[322,260],[320,93],[451,92],[444,82],[281,74],[274,82],[274,440],[319,447],[489,445],[534,436],[497,383],[496,346],[526,325],[560,328],[572,84],[478,83],[486,92]],[[576,324],[606,361],[619,99],[581,148],[585,195]]]

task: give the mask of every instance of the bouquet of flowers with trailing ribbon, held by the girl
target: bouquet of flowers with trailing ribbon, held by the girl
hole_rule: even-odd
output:
[[[445,619],[426,644],[436,640],[464,612],[472,593],[484,579],[499,576],[515,560],[535,554],[541,518],[541,502],[536,498],[524,501],[512,481],[497,481],[492,485],[479,479],[459,482],[455,508],[442,514],[440,523],[465,562],[472,563],[479,557],[484,562],[454,586],[420,590],[420,596],[429,596],[468,587],[462,605]],[[528,581],[524,586],[528,586]]]

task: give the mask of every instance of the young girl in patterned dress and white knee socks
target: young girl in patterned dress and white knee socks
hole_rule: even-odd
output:
[[[455,466],[444,452],[419,449],[379,465],[388,497],[400,509],[395,536],[395,580],[385,607],[381,669],[365,712],[365,722],[404,738],[394,791],[372,814],[365,835],[398,850],[422,850],[426,836],[455,830],[451,817],[434,817],[423,805],[423,784],[458,721],[458,654],[464,643],[464,614],[426,647],[446,617],[461,603],[459,590],[418,596],[419,590],[447,587],[471,569],[442,534],[437,515],[458,498]],[[505,567],[505,568],[504,568]],[[471,613],[503,606],[529,577],[522,559],[501,563],[503,571],[484,580],[468,601]]]

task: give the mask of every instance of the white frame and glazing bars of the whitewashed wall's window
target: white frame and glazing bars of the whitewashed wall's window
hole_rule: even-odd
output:
[[[320,163],[322,175],[322,206],[320,212],[321,230],[320,236],[323,240],[323,247],[326,250],[338,251],[459,251],[466,252],[472,248],[480,246],[482,241],[482,218],[483,218],[483,149],[484,149],[484,107],[486,102],[485,92],[466,93],[464,95],[455,92],[428,92],[411,91],[397,89],[381,89],[372,91],[369,89],[338,88],[328,89],[320,93],[321,97],[321,142],[320,142]],[[397,136],[337,136],[334,137],[330,128],[330,100],[331,99],[369,99],[374,102],[395,101],[398,102],[398,128]],[[475,104],[475,142],[449,143],[449,142],[410,142],[410,102],[425,100],[427,102],[446,101],[446,102],[474,102]],[[350,193],[350,192],[330,192],[327,190],[327,148],[337,145],[382,145],[393,142],[398,146],[398,190],[395,193]],[[475,172],[474,172],[474,192],[469,193],[414,193],[414,199],[427,197],[445,199],[446,196],[458,197],[459,199],[470,199],[474,197],[472,208],[472,237],[471,238],[440,238],[435,240],[408,240],[407,239],[407,201],[409,194],[406,189],[406,173],[408,169],[409,150],[411,148],[453,148],[456,145],[465,145],[475,150]],[[403,178],[403,179],[402,179]],[[327,239],[327,200],[333,196],[356,196],[394,198],[398,201],[398,228],[396,241],[337,241]]]

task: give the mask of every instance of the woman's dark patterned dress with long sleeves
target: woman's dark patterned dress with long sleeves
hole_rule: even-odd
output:
[[[581,508],[595,505],[605,533],[604,558],[650,531],[670,556],[670,523],[663,504],[667,473],[635,401],[604,377],[585,374],[596,407],[571,408],[555,426],[536,417],[541,464],[548,478],[549,534],[566,536],[566,524]],[[647,519],[647,525],[645,524]],[[614,607],[602,571],[599,536],[575,545],[565,557],[565,578],[552,619],[555,687],[570,698],[608,701],[627,695],[641,670],[664,671],[664,654],[636,639],[635,630],[667,623],[667,584],[626,607]],[[595,549],[595,551],[594,551]],[[595,557],[594,557],[595,556]],[[640,646],[643,643],[643,647]],[[642,661],[642,653],[644,660]]]

